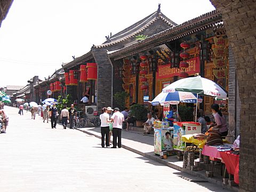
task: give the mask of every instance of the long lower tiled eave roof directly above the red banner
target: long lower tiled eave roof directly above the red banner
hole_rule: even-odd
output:
[[[204,30],[211,27],[217,27],[217,23],[222,22],[221,13],[219,11],[212,11],[205,13],[197,18],[183,22],[178,26],[166,29],[160,33],[147,37],[142,41],[136,42],[132,45],[126,46],[118,51],[108,54],[110,58],[115,60],[128,57],[134,53],[146,51],[152,47],[164,44],[166,42],[174,41],[197,31]]]

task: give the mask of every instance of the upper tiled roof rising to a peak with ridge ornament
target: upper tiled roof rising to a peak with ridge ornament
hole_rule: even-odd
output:
[[[135,36],[141,34],[145,31],[149,26],[153,25],[157,20],[163,20],[170,27],[177,26],[175,22],[167,18],[163,13],[158,13],[158,11],[150,14],[148,17],[134,23],[132,26],[120,31],[119,33],[113,35],[110,40],[111,42],[105,42],[101,45],[94,45],[95,48],[108,47],[111,45],[115,45],[121,42],[126,41],[127,39],[134,38]]]

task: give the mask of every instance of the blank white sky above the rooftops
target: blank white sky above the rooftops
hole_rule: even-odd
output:
[[[214,10],[209,0],[14,0],[0,28],[0,87],[52,75],[157,11],[182,23]]]

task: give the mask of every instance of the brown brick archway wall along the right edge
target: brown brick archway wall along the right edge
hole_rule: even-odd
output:
[[[210,0],[222,12],[230,46],[236,60],[240,115],[239,187],[255,191],[256,184],[256,22],[255,0]],[[238,101],[239,102],[239,101]],[[238,103],[239,104],[239,103]]]

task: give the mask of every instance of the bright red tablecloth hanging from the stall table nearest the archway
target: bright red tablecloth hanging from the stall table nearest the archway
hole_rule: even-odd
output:
[[[239,155],[231,154],[230,151],[220,151],[222,161],[225,163],[229,174],[234,175],[234,181],[239,183]]]

